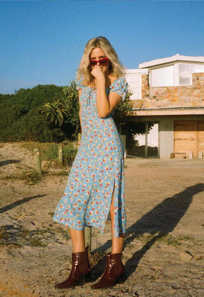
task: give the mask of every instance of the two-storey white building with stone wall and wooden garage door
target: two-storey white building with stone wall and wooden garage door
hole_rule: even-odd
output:
[[[119,130],[126,157],[204,155],[204,57],[175,56],[127,70],[132,109]]]

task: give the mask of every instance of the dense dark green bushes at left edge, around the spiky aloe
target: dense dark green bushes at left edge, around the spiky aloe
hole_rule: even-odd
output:
[[[63,96],[62,89],[55,85],[38,85],[32,89],[20,89],[15,94],[0,94],[0,141],[64,140],[64,132],[50,125],[38,112],[43,103]]]

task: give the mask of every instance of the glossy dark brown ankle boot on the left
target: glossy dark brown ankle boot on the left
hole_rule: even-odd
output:
[[[91,265],[88,260],[88,247],[85,252],[72,253],[72,270],[69,277],[55,287],[59,289],[75,287],[82,279],[82,284],[91,281]]]

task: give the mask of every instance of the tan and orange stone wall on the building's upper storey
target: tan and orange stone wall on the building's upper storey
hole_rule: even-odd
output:
[[[142,75],[142,99],[133,100],[133,108],[204,106],[204,73],[193,73],[191,86],[149,87],[149,77]]]

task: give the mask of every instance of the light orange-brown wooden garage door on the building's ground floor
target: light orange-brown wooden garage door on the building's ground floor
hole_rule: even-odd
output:
[[[174,152],[176,158],[188,158],[193,151],[193,158],[198,152],[204,154],[204,121],[174,121]]]

